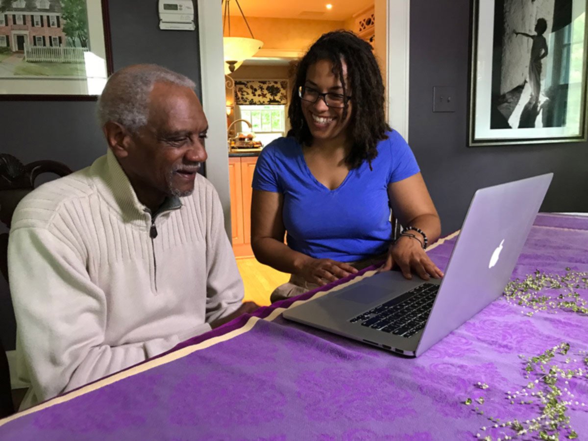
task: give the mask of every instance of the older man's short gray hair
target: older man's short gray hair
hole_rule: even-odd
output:
[[[158,82],[172,83],[194,89],[196,85],[187,76],[156,64],[127,66],[108,78],[98,99],[98,121],[103,127],[114,121],[136,132],[147,125],[149,95]]]

